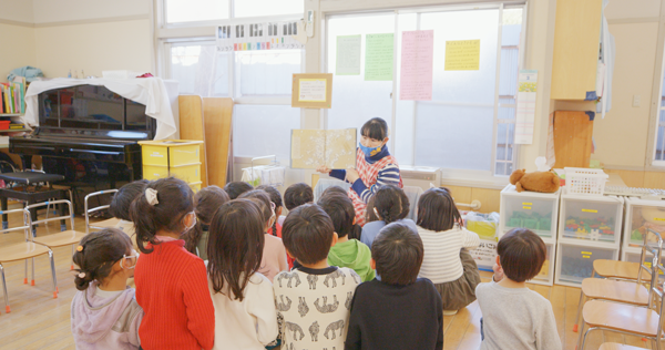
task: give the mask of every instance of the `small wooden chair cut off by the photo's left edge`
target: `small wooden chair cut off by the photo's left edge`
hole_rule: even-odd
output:
[[[55,281],[55,262],[53,261],[53,251],[49,247],[44,247],[42,245],[37,245],[32,241],[32,235],[30,234],[31,226],[28,225],[30,219],[30,212],[25,208],[23,209],[12,209],[4,210],[2,214],[11,214],[11,213],[22,213],[23,214],[23,226],[4,228],[3,233],[23,230],[24,241],[14,243],[9,245],[3,245],[0,247],[0,275],[2,276],[2,289],[4,291],[4,311],[7,313],[11,312],[11,308],[9,306],[9,295],[7,294],[7,281],[4,279],[4,267],[3,262],[11,261],[25,261],[25,278],[23,279],[23,284],[28,284],[28,259],[32,259],[32,282],[34,286],[34,257],[40,256],[42,254],[48,254],[49,259],[51,259],[51,278],[53,280],[53,298],[58,298],[58,285]]]

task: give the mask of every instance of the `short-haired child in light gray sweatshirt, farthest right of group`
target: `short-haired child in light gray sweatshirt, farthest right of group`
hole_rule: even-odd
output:
[[[493,281],[475,288],[484,340],[480,349],[561,349],[552,305],[525,281],[535,277],[548,249],[542,238],[513,228],[499,240]]]

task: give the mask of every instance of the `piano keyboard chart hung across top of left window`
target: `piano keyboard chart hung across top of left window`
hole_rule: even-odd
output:
[[[216,28],[218,51],[303,49],[296,40],[298,22],[228,24]]]

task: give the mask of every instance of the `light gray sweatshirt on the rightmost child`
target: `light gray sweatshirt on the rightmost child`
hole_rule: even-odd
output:
[[[550,300],[529,288],[505,288],[495,282],[475,288],[482,311],[481,350],[561,350]]]

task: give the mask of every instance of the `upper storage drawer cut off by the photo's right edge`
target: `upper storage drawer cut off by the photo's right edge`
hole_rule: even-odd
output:
[[[626,197],[625,207],[624,249],[642,247],[647,228],[665,237],[665,200]]]

